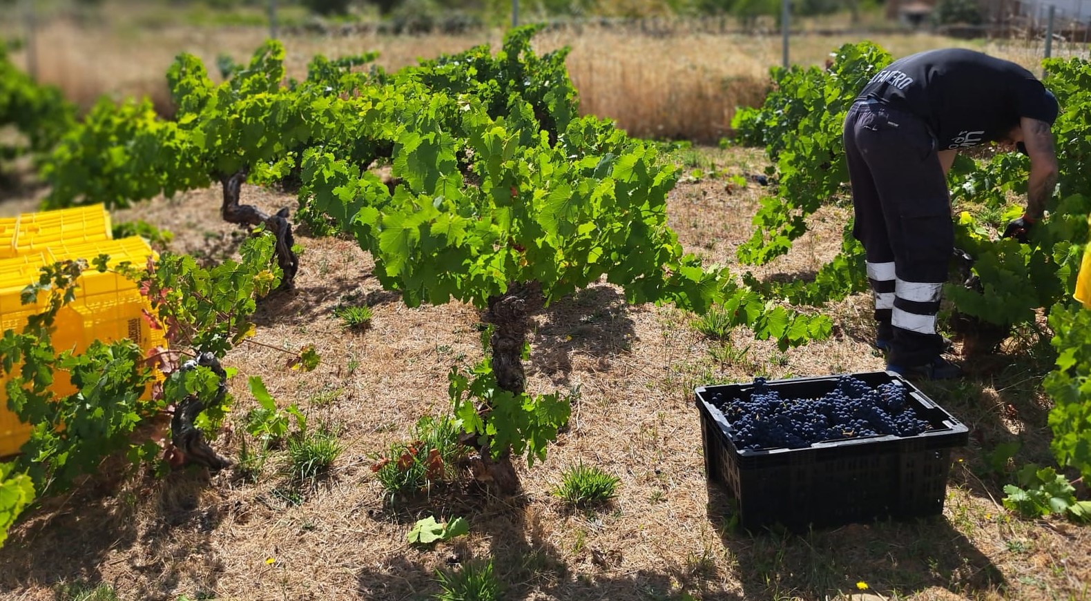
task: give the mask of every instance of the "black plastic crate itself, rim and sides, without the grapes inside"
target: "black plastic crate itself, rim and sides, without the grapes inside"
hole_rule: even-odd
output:
[[[875,519],[911,519],[943,513],[950,449],[969,433],[961,422],[911,382],[894,372],[846,374],[871,387],[900,382],[907,404],[932,428],[915,436],[871,436],[812,444],[806,448],[740,450],[731,441],[717,393],[726,401],[748,398],[754,384],[699,386],[705,470],[734,496],[744,528],[781,524],[791,530]],[[820,397],[837,387],[838,375],[767,382],[781,398]],[[722,406],[722,402],[721,402]]]

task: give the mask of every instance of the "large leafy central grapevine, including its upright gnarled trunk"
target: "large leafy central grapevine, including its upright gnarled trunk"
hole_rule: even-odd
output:
[[[327,215],[370,251],[381,284],[410,306],[454,299],[483,311],[490,359],[452,372],[449,393],[491,479],[508,490],[517,488],[508,454],[541,459],[568,414],[563,396],[526,390],[528,316],[542,305],[604,277],[633,303],[697,312],[722,305],[735,325],[783,348],[830,327],[684,254],[666,225],[673,167],[613,123],[574,117],[575,94],[556,92],[571,91],[566,76],[547,70],[553,83],[546,87],[508,79],[507,95],[492,92],[504,85],[496,81],[467,87],[465,76],[449,76],[467,69],[475,82],[479,70],[495,69],[512,77],[515,57],[528,65],[559,60],[536,58],[528,39],[527,29],[511,34],[500,64],[480,53],[440,60],[329,99],[325,110],[338,116],[339,130],[325,134],[326,147],[304,152],[300,190],[301,206]],[[337,149],[352,142],[391,145],[392,179]]]

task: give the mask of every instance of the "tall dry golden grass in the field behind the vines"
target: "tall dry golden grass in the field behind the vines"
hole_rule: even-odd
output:
[[[148,96],[161,112],[169,113],[165,73],[176,55],[192,52],[215,74],[218,55],[245,61],[265,35],[261,27],[136,28],[79,26],[58,20],[38,35],[39,77],[59,85],[82,107],[104,94],[116,98]],[[284,41],[288,73],[300,77],[315,53],[336,57],[379,50],[379,64],[393,70],[477,44],[491,44],[495,49],[501,35],[499,31],[464,36],[298,34]],[[820,64],[840,45],[866,37],[895,56],[963,46],[1015,60],[1034,71],[1043,53],[1041,44],[954,40],[927,34],[847,34],[796,36],[791,59]],[[686,29],[649,35],[639,29],[585,26],[540,34],[536,45],[540,50],[572,47],[567,64],[585,113],[612,118],[633,135],[711,143],[730,133],[736,107],[760,104],[769,85],[768,69],[781,62],[778,35],[714,35]],[[1078,51],[1062,45],[1055,48],[1058,56]]]

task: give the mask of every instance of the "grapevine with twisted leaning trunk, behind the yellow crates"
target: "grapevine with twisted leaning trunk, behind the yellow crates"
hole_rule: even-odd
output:
[[[298,259],[287,208],[271,215],[239,202],[252,171],[259,181],[283,175],[290,167],[289,151],[309,133],[291,110],[295,96],[280,84],[283,60],[284,48],[271,41],[247,69],[217,86],[200,60],[179,56],[167,77],[179,107],[175,120],[156,116],[148,100],[100,100],[43,166],[51,187],[45,207],[124,207],[219,182],[225,220],[264,226],[277,236],[281,281],[290,286]]]

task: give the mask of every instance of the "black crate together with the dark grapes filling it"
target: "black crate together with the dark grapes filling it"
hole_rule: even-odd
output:
[[[892,372],[695,390],[705,469],[750,530],[940,514],[966,425]]]

